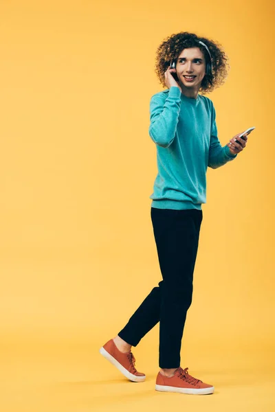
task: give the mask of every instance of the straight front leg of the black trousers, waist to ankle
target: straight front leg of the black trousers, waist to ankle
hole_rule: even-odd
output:
[[[152,209],[159,266],[159,367],[180,365],[186,312],[192,302],[192,281],[197,258],[202,211]]]

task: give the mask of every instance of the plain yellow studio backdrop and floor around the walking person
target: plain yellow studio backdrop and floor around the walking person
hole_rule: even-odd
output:
[[[1,1],[1,409],[274,411],[274,3]],[[158,325],[137,385],[98,353],[161,279],[150,208],[157,46],[195,32],[230,57],[208,94],[221,144],[181,366],[213,396],[157,393]]]

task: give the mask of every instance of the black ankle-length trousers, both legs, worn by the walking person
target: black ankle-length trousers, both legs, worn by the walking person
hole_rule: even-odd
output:
[[[186,312],[192,302],[202,210],[151,207],[151,220],[162,281],[151,290],[118,336],[136,346],[159,322],[159,367],[170,369],[180,366]]]

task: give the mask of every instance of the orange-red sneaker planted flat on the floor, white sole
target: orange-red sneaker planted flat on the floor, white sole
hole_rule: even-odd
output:
[[[178,367],[173,376],[164,376],[160,372],[157,374],[157,382],[155,385],[156,391],[161,392],[179,392],[188,393],[190,395],[208,395],[214,392],[214,387],[203,383],[197,378],[193,378],[188,374],[188,367],[182,369]]]

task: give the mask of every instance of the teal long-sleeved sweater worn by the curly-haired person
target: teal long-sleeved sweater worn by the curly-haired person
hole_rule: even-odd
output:
[[[221,146],[212,100],[188,98],[178,87],[152,96],[149,135],[157,148],[152,207],[201,209],[206,203],[206,170],[237,155]]]

